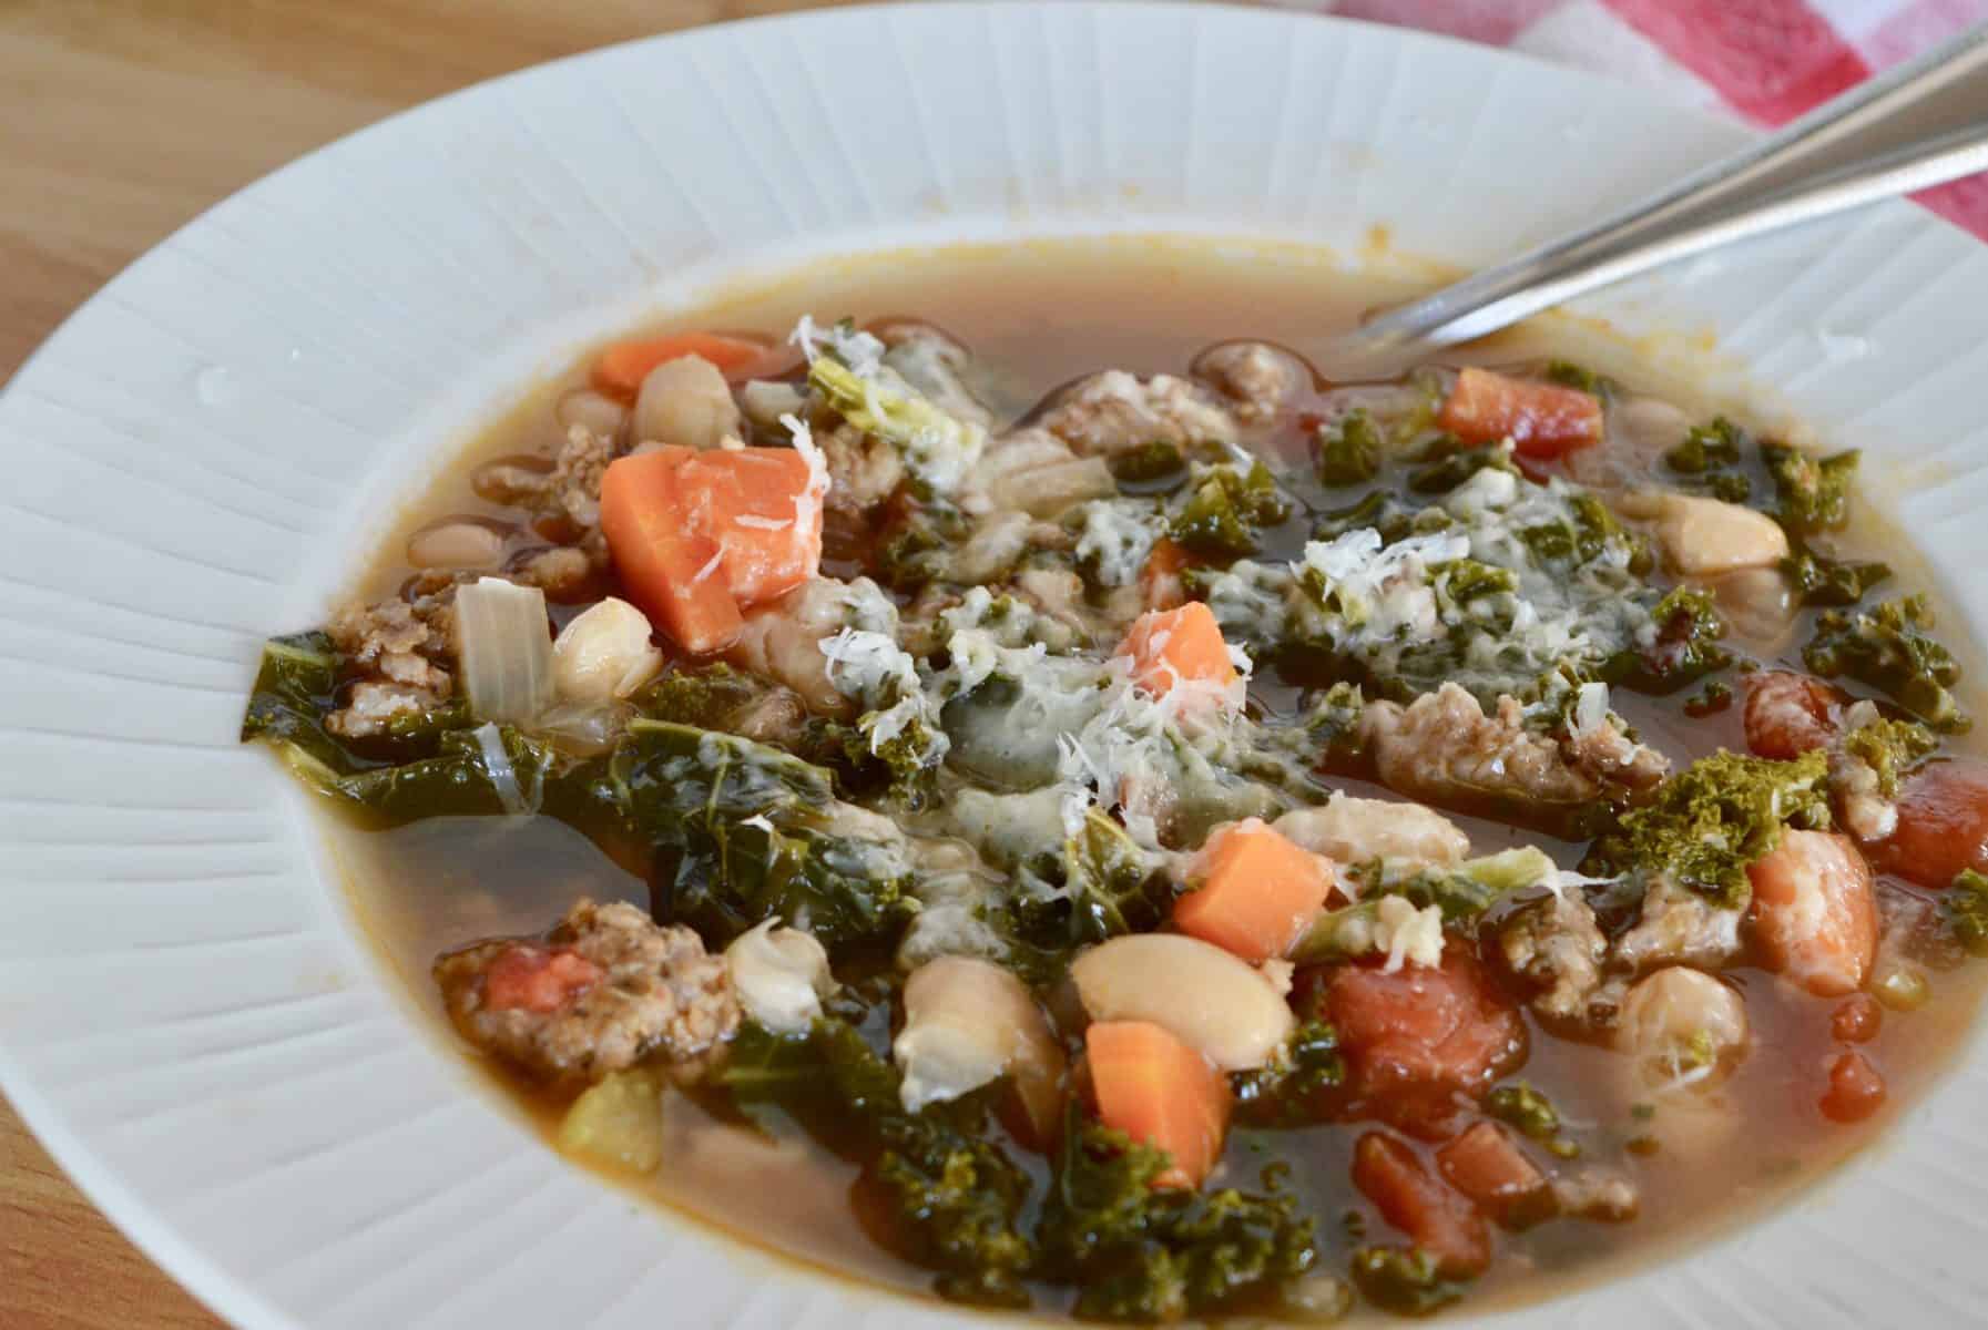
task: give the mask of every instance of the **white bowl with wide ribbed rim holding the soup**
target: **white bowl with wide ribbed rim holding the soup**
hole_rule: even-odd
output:
[[[235,742],[264,632],[396,495],[638,312],[809,254],[1072,231],[1475,264],[1741,131],[1288,14],[934,6],[710,28],[400,115],[169,239],[0,400],[0,1083],[241,1326],[978,1324],[797,1272],[563,1165],[439,1056]],[[1988,249],[1906,205],[1582,306],[1716,336],[1867,447],[1988,624]],[[1978,1052],[1978,1050],[1976,1050]],[[1499,1320],[1978,1324],[1972,1056],[1829,1187]]]

